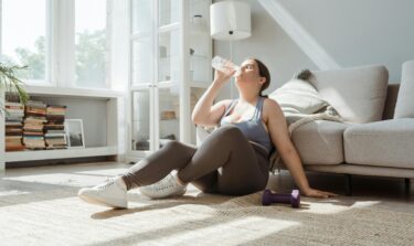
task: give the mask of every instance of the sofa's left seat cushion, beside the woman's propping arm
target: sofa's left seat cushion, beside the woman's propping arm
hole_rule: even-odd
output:
[[[301,125],[291,133],[304,164],[339,164],[343,162],[343,131],[349,125],[316,120]]]

